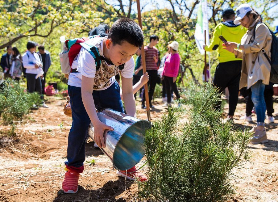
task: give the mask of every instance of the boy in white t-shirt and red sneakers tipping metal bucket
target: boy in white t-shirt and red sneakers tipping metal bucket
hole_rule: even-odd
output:
[[[102,123],[97,116],[103,108],[123,111],[120,97],[120,86],[115,82],[119,65],[124,64],[122,74],[122,96],[129,116],[136,117],[135,99],[132,91],[132,76],[134,69],[133,55],[143,45],[143,32],[139,25],[131,19],[118,19],[111,27],[108,36],[93,38],[96,47],[103,57],[100,68],[96,71],[93,56],[84,48],[73,61],[73,72],[68,78],[68,93],[72,108],[73,123],[68,134],[68,161],[65,162],[67,172],[62,183],[65,193],[78,191],[78,179],[83,172],[85,161],[85,142],[88,137],[90,121],[94,125],[94,140],[102,148],[105,147],[105,130],[112,127]],[[127,178],[139,178],[146,181],[135,166],[127,170]],[[129,173],[131,172],[131,173]],[[126,171],[117,172],[125,176]]]

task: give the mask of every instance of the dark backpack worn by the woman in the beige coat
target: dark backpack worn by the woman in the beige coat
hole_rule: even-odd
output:
[[[255,38],[255,29],[256,27],[254,28],[254,38]],[[271,50],[270,50],[271,58],[268,57],[264,49],[262,49],[261,52],[263,53],[263,55],[266,57],[269,64],[271,65],[269,81],[272,83],[278,83],[278,39],[270,29],[269,31],[272,35],[272,43],[271,43]]]

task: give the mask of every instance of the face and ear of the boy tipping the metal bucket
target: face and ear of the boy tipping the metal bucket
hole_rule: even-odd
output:
[[[123,41],[121,45],[113,45],[113,42],[110,39],[107,39],[105,44],[106,48],[108,49],[110,61],[117,66],[129,61],[139,49],[138,47],[131,45],[127,41]]]

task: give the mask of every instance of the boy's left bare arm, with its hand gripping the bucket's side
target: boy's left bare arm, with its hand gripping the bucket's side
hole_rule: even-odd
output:
[[[114,128],[102,123],[98,119],[98,115],[95,109],[95,104],[93,101],[93,85],[94,78],[85,77],[82,75],[81,81],[81,95],[86,112],[89,115],[90,120],[94,126],[94,141],[99,146],[99,148],[106,146],[106,136],[104,134],[105,130],[114,130]]]

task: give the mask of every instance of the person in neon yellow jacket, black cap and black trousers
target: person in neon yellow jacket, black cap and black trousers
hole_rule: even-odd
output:
[[[247,29],[240,25],[234,24],[234,10],[228,8],[222,12],[222,22],[219,23],[213,33],[213,37],[209,46],[204,45],[205,51],[214,51],[218,49],[219,64],[215,70],[213,83],[219,88],[219,92],[223,93],[228,87],[229,97],[229,113],[228,120],[233,120],[234,111],[239,98],[239,80],[241,73],[242,59],[235,58],[233,53],[223,49],[223,41],[219,36],[223,36],[227,41],[240,42],[242,36]],[[217,109],[220,110],[221,102],[218,103]]]

